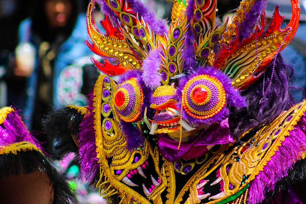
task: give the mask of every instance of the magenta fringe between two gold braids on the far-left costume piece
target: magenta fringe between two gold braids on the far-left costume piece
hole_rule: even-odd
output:
[[[28,132],[18,111],[7,114],[4,122],[0,125],[0,135],[0,146],[26,141],[42,150],[39,142]]]

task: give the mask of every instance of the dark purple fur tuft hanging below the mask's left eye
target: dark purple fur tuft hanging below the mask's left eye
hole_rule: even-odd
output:
[[[135,127],[132,123],[123,120],[120,121],[120,124],[122,126],[121,130],[126,137],[126,147],[129,151],[144,146],[144,138],[137,125]]]

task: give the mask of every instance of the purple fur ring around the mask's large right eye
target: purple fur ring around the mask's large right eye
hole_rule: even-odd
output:
[[[188,75],[186,78],[182,77],[180,82],[179,82],[179,87],[177,90],[181,90],[181,91],[177,91],[177,96],[179,98],[181,98],[181,94],[182,94],[182,90],[185,86],[185,84],[187,83],[187,81],[189,79],[191,79],[194,76],[197,75],[201,75],[201,74],[208,74],[210,76],[214,76],[216,77],[218,80],[220,80],[220,82],[223,85],[223,88],[227,94],[227,103],[229,106],[233,106],[233,107],[245,107],[246,106],[246,102],[245,99],[240,95],[239,91],[234,89],[231,85],[231,80],[221,71],[210,67],[210,66],[205,66],[205,67],[201,67],[199,69],[197,69],[196,71],[194,71],[192,74]],[[177,104],[177,107],[180,108],[181,107],[181,101]],[[211,123],[214,121],[222,121],[225,117],[229,116],[230,111],[228,108],[224,107],[218,114],[216,114],[214,117],[208,118],[208,119],[204,119],[204,120],[200,120],[200,119],[196,119],[194,117],[189,116],[185,111],[183,111],[182,116],[183,119],[188,119],[188,121],[190,123],[195,123],[197,125],[201,125],[203,123]]]

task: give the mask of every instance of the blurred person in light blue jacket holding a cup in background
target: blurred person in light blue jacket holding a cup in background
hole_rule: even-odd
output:
[[[23,20],[18,29],[8,105],[12,103],[22,110],[28,128],[37,133],[47,151],[52,144],[44,141],[43,115],[52,106],[73,103],[71,90],[83,85],[82,69],[76,65],[90,62],[89,57],[82,57],[92,55],[84,45],[86,21],[80,6],[80,0],[38,0],[31,17]],[[86,102],[86,98],[78,100],[77,104]]]

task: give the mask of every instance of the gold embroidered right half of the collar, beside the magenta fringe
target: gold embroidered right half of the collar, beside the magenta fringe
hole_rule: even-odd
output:
[[[249,141],[245,142],[244,145],[251,146],[244,151],[241,151],[242,148],[244,148],[244,145],[242,145],[240,147],[234,147],[227,154],[222,154],[233,144],[224,145],[223,148],[218,150],[218,152],[216,152],[213,157],[189,179],[182,191],[178,194],[174,203],[180,203],[182,200],[181,197],[188,189],[190,191],[188,202],[200,203],[200,201],[197,199],[196,184],[198,184],[200,180],[207,178],[207,176],[209,176],[217,168],[220,169],[220,176],[224,181],[225,195],[208,203],[217,203],[231,195],[236,194],[238,191],[248,185],[250,181],[254,180],[260,171],[263,171],[263,168],[267,165],[267,162],[271,160],[271,157],[278,150],[278,147],[282,145],[285,137],[290,136],[289,131],[294,129],[294,126],[297,125],[298,121],[300,121],[300,118],[302,115],[304,115],[305,111],[306,101],[293,106],[288,111],[284,111],[271,123],[263,126],[263,128],[261,128],[255,135],[252,136],[251,139],[249,139]],[[276,133],[277,131],[279,132]],[[249,131],[242,134],[240,138],[242,138],[248,132]],[[265,144],[268,146],[263,148]],[[300,158],[297,159],[305,158],[306,152],[303,152],[303,150],[300,151]],[[229,173],[226,173],[226,166],[229,164],[231,165],[231,168]],[[248,176],[247,180],[243,180],[243,176]],[[229,183],[235,186],[232,190],[230,190],[228,187]],[[244,197],[243,199],[239,200],[238,203],[241,203],[244,200],[247,200],[247,198]]]

